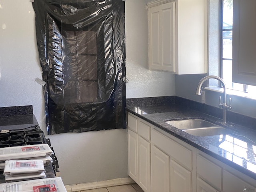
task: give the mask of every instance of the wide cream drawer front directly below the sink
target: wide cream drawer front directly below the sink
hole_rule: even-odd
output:
[[[162,151],[166,152],[166,154],[170,155],[171,158],[174,158],[177,162],[179,162],[179,164],[183,165],[189,170],[192,170],[192,151],[154,129],[152,129],[151,132],[151,141]]]

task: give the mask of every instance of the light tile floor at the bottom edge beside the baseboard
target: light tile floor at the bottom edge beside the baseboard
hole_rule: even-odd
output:
[[[98,188],[80,192],[144,192],[137,184]]]

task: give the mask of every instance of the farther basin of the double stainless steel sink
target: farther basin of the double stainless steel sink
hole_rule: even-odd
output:
[[[166,123],[182,130],[216,126],[202,119],[171,120],[171,121],[166,121]]]

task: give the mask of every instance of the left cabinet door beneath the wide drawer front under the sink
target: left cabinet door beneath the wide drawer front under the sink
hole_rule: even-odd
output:
[[[170,192],[170,157],[155,146],[151,149],[151,191]]]

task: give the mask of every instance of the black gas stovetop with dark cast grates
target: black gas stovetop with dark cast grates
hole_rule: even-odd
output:
[[[10,130],[8,133],[0,133],[0,148],[46,143],[44,132],[37,128],[32,130]]]

